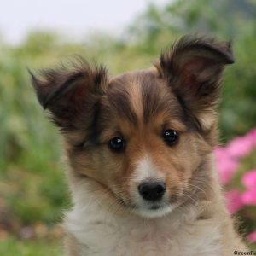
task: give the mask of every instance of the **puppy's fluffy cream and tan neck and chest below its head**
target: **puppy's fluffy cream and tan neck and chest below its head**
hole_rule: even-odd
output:
[[[243,250],[229,213],[212,158],[196,170],[195,186],[183,205],[162,218],[141,218],[120,207],[108,189],[68,172],[73,209],[67,212],[67,255],[231,255]]]

